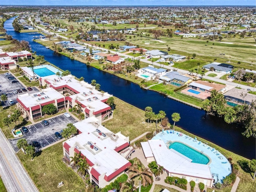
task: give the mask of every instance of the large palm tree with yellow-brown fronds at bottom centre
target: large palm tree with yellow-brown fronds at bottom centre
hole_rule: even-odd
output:
[[[142,168],[141,164],[134,164],[128,167],[128,169],[134,173],[130,175],[130,178],[139,176],[139,192],[141,191],[141,185],[146,186],[146,182],[152,184],[152,173],[148,168]]]

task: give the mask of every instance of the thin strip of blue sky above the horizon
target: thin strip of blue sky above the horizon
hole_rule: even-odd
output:
[[[255,0],[0,0],[0,5],[251,5],[256,6]]]

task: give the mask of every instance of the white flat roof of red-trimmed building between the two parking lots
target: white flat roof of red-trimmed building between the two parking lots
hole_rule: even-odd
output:
[[[42,94],[44,93],[44,94]],[[40,98],[40,100],[38,100]],[[42,99],[44,98],[44,99]],[[22,94],[18,95],[18,99],[26,106],[32,107],[38,104],[43,104],[49,101],[53,101],[56,99],[65,98],[62,94],[54,90],[53,88],[47,88],[42,90],[41,92],[33,93],[33,94]]]

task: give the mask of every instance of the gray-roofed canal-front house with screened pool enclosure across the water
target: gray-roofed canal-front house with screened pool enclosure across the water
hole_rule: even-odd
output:
[[[159,79],[162,80],[163,82],[172,84],[177,87],[180,87],[192,82],[192,78],[183,76],[177,71],[168,72],[165,75],[160,76]]]

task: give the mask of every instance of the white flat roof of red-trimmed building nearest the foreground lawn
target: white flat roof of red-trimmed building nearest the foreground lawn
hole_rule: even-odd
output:
[[[128,163],[126,158],[114,151],[115,148],[127,143],[126,140],[128,140],[128,138],[123,136],[120,132],[114,134],[97,122],[97,118],[90,117],[75,123],[74,126],[76,126],[82,134],[66,140],[66,143],[69,146],[77,146],[77,149],[96,165],[94,169],[99,174],[106,173],[106,176],[109,176]],[[100,136],[96,129],[106,134],[106,137]],[[91,142],[98,150],[96,151],[90,148],[87,142]]]

